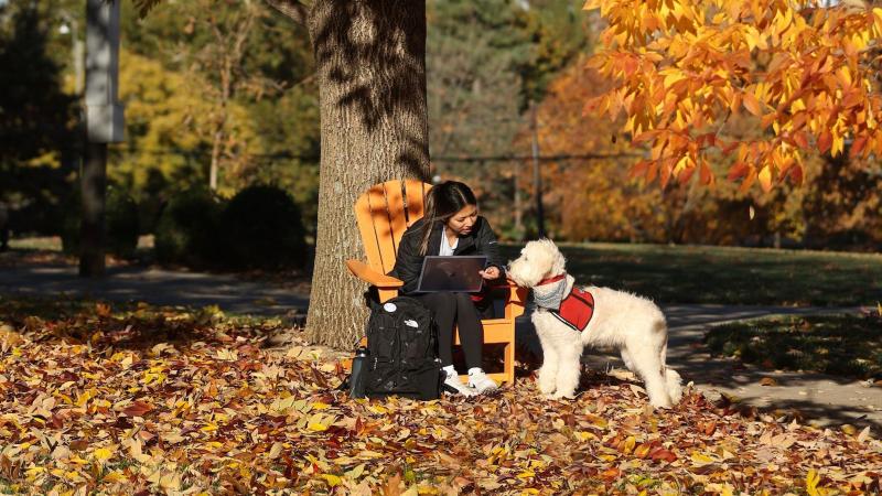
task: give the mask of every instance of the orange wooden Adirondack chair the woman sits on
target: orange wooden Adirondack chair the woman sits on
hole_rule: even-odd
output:
[[[387,181],[370,187],[355,202],[367,263],[346,260],[346,267],[358,279],[377,287],[380,302],[398,295],[398,288],[404,285],[401,280],[386,273],[395,267],[398,242],[405,230],[422,217],[426,193],[431,187],[417,180]],[[505,345],[503,371],[487,374],[497,382],[515,380],[515,317],[524,313],[525,299],[526,290],[510,287],[505,316],[481,321],[484,344]],[[454,343],[460,344],[459,332]]]

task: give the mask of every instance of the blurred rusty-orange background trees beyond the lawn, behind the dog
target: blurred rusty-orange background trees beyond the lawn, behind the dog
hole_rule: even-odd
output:
[[[643,177],[631,175],[627,164],[639,152],[619,139],[623,119],[612,121],[584,111],[584,103],[609,86],[584,61],[576,61],[548,86],[539,106],[542,154],[577,157],[542,166],[547,220],[557,239],[759,245],[765,240],[773,244],[775,233],[802,239],[803,198],[813,188],[785,185],[763,194],[739,192],[738,185],[729,182],[711,188],[697,182],[670,182],[659,188],[646,187]],[[741,117],[729,126],[734,136],[755,134]],[[529,139],[528,132],[523,133],[517,148],[529,147]],[[807,164],[809,181],[818,162],[811,159]],[[717,173],[724,168],[724,162],[713,165]],[[521,171],[521,184],[531,185],[529,170]],[[747,222],[751,211],[754,215]],[[821,230],[828,227],[819,226]]]

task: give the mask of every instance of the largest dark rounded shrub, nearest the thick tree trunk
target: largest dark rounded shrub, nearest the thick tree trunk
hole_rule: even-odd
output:
[[[256,185],[239,191],[225,208],[222,226],[230,268],[304,265],[300,209],[281,188]]]

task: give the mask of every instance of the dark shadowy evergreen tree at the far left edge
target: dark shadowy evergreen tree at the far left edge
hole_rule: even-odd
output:
[[[62,61],[41,2],[0,6],[0,202],[18,231],[51,233],[66,180],[78,166],[74,98],[63,90]],[[28,222],[22,222],[22,218]]]

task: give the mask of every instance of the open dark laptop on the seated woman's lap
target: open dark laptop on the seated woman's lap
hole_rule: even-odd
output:
[[[484,284],[484,278],[478,272],[484,270],[486,265],[487,257],[483,255],[454,257],[430,255],[422,260],[417,292],[478,292]]]

